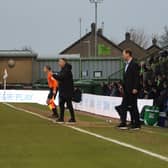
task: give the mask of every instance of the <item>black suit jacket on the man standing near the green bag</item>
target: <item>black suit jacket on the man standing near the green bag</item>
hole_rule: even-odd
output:
[[[125,94],[132,94],[133,89],[140,89],[140,68],[138,64],[132,60],[124,72],[123,87]]]

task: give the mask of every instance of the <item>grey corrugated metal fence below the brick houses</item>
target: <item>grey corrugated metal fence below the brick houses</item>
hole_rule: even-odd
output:
[[[68,61],[72,64],[75,80],[107,80],[111,74],[119,71],[122,67],[120,57],[81,58],[68,59]],[[57,63],[58,59],[37,59],[36,73],[38,74],[38,79],[45,78],[43,73],[44,65],[50,65],[54,71],[59,71]],[[121,74],[118,74],[116,77],[117,79],[121,78]]]

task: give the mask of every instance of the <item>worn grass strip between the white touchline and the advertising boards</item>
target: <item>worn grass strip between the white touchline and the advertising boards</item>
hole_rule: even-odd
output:
[[[46,106],[41,106],[37,104],[15,104],[23,108],[31,107],[34,109],[40,109],[40,111],[47,111]],[[66,116],[69,113],[66,113]],[[95,132],[110,138],[114,138],[129,144],[136,145],[141,148],[145,148],[152,152],[162,154],[168,157],[168,129],[164,128],[153,128],[153,127],[143,127],[141,131],[119,131],[115,128],[116,124],[109,125],[105,122],[105,119],[98,118],[96,116],[88,116],[77,113],[77,120],[82,122],[89,122],[95,124],[86,124],[84,129],[91,132]],[[103,127],[101,127],[103,125]],[[83,128],[83,125],[78,125]]]

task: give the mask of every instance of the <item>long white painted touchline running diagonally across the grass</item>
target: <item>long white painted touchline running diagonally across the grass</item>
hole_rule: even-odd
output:
[[[54,122],[55,120],[53,119],[50,119],[50,118],[47,118],[47,117],[44,117],[40,114],[37,114],[37,113],[34,113],[32,111],[29,111],[29,110],[25,110],[25,109],[22,109],[22,108],[18,108],[18,107],[15,107],[11,104],[8,104],[8,103],[3,103],[4,105],[10,107],[10,108],[13,108],[15,110],[18,110],[18,111],[24,111],[26,113],[29,113],[29,114],[32,114],[36,117],[39,117],[41,119],[44,119],[44,120],[48,120],[48,121],[52,121]],[[141,152],[141,153],[144,153],[146,155],[149,155],[149,156],[152,156],[152,157],[155,157],[155,158],[158,158],[160,160],[163,160],[163,161],[166,161],[168,162],[168,157],[166,156],[163,156],[163,155],[160,155],[160,154],[157,154],[157,153],[154,153],[154,152],[151,152],[149,150],[145,150],[143,148],[140,148],[140,147],[136,147],[134,145],[131,145],[131,144],[128,144],[128,143],[125,143],[125,142],[121,142],[121,141],[118,141],[118,140],[115,140],[115,139],[112,139],[112,138],[108,138],[108,137],[105,137],[105,136],[102,136],[102,135],[99,135],[99,134],[96,134],[96,133],[93,133],[93,132],[90,132],[90,131],[87,131],[87,130],[84,130],[84,129],[81,129],[81,128],[78,128],[78,127],[75,127],[75,126],[71,126],[71,125],[66,125],[66,124],[60,124],[64,127],[67,127],[67,128],[71,128],[73,130],[76,130],[78,132],[81,132],[81,133],[84,133],[84,134],[87,134],[87,135],[91,135],[91,136],[94,136],[96,138],[99,138],[99,139],[102,139],[102,140],[105,140],[105,141],[108,141],[108,142],[112,142],[114,144],[117,144],[117,145],[120,145],[120,146],[123,146],[123,147],[126,147],[126,148],[129,148],[129,149],[133,149],[133,150],[136,150],[138,152]]]

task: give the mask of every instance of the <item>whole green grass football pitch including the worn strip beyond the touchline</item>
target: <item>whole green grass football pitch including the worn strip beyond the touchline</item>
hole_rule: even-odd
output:
[[[74,126],[61,125],[49,114],[42,105],[0,104],[0,168],[168,168],[168,161],[136,150],[168,159],[168,129],[120,131],[115,120],[81,112]]]

